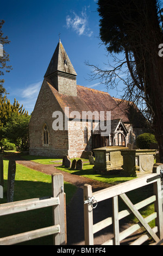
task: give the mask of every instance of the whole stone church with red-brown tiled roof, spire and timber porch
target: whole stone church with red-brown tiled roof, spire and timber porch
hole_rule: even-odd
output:
[[[92,114],[92,118],[90,115],[82,118],[83,113],[95,112],[111,113],[108,134],[102,135],[102,126],[105,127],[107,121],[105,116],[100,126],[100,117],[95,118]],[[62,125],[59,126],[58,120]],[[77,73],[59,41],[30,120],[29,154],[81,157],[84,150],[114,145],[127,147],[143,133],[144,123],[145,119],[136,106],[108,93],[78,86]]]

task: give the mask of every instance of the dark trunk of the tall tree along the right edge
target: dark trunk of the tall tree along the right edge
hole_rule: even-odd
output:
[[[142,2],[146,8],[142,13],[140,11],[140,22],[129,31],[130,46],[135,57],[137,77],[142,78],[145,99],[153,113],[153,129],[159,144],[160,162],[163,163],[163,58],[159,57],[159,45],[163,38],[156,1]],[[135,33],[137,30],[139,33]]]

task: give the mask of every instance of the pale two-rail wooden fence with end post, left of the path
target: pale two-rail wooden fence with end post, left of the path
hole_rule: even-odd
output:
[[[47,235],[53,235],[54,245],[66,244],[66,200],[64,193],[64,177],[62,174],[52,175],[52,188],[53,197],[51,198],[35,198],[0,205],[0,216],[45,208],[49,206],[52,206],[53,209],[53,225],[51,227],[3,237],[0,239],[0,245],[14,245],[16,243]]]

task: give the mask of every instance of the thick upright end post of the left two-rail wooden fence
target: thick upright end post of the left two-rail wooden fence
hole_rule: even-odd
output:
[[[53,236],[54,245],[65,245],[65,193],[64,193],[64,176],[61,173],[52,174],[53,197],[59,197],[59,205],[53,206],[53,224],[60,225],[60,233]]]

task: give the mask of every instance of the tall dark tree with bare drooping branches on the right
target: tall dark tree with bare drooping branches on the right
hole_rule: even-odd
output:
[[[108,86],[116,86],[127,67],[124,97],[145,105],[152,120],[163,162],[163,43],[162,10],[157,0],[99,0],[100,37],[111,54],[123,53],[124,58],[108,70],[95,67],[95,76]]]

